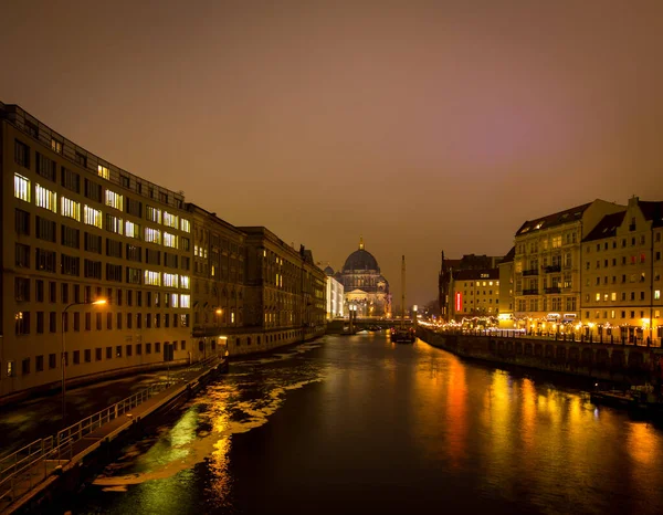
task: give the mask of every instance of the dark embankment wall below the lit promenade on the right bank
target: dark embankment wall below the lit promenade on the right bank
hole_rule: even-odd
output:
[[[418,327],[427,344],[471,359],[536,368],[593,379],[643,385],[661,382],[663,350],[632,345],[544,338],[436,333]]]

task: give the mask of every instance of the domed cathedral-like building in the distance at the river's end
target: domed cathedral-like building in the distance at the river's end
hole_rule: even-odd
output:
[[[389,282],[380,273],[378,261],[364,249],[362,238],[359,238],[359,249],[348,255],[334,277],[344,286],[344,313],[348,313],[348,306],[354,304],[360,318],[391,315]]]

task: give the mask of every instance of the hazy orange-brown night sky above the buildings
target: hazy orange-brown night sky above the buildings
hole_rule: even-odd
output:
[[[327,7],[322,7],[325,3]],[[440,251],[663,199],[663,1],[6,1],[0,99],[400,298]],[[398,303],[398,301],[397,301]]]

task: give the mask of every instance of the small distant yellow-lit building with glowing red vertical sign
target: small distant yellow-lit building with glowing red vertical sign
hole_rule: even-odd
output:
[[[496,317],[499,314],[499,270],[459,270],[451,274],[450,319]]]

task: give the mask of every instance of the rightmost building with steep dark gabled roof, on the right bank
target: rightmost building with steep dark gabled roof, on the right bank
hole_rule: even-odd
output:
[[[582,240],[583,330],[642,341],[663,336],[663,202],[629,200]]]

